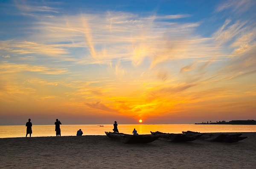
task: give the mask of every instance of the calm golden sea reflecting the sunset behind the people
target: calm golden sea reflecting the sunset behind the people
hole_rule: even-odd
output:
[[[105,131],[112,131],[113,124],[83,124],[61,125],[61,136],[76,135],[81,129],[84,135],[105,135]],[[118,124],[119,132],[131,134],[136,128],[139,134],[150,134],[150,131],[181,133],[182,131],[195,132],[256,132],[256,125],[196,125],[196,124]],[[55,125],[33,125],[32,137],[55,136]],[[0,138],[25,137],[26,127],[0,126]]]

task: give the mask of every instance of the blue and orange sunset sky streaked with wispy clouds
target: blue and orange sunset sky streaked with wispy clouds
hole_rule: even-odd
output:
[[[0,125],[256,119],[255,0],[1,0]]]

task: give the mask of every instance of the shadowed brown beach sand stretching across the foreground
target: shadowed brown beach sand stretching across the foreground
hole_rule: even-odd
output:
[[[106,135],[1,138],[0,169],[255,169],[256,132],[236,143],[123,144]]]

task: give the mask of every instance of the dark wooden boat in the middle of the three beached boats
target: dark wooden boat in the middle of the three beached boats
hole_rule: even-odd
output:
[[[164,132],[151,132],[152,135],[160,136],[160,140],[165,140],[169,142],[184,142],[184,141],[194,141],[201,137],[204,134],[193,134],[193,135],[186,135],[186,134],[175,134],[175,133],[164,133]]]

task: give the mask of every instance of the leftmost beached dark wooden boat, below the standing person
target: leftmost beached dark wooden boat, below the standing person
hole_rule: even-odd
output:
[[[154,135],[130,135],[124,133],[116,132],[105,132],[106,135],[116,141],[121,141],[123,143],[151,143],[157,140],[160,136]]]

